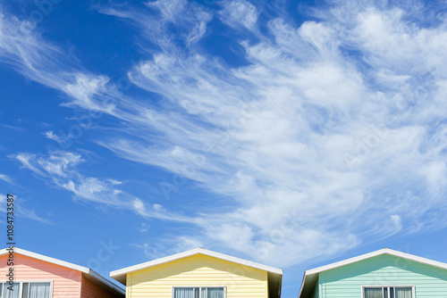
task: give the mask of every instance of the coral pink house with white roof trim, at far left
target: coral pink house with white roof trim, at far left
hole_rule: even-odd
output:
[[[9,252],[0,250],[0,298],[123,298],[125,290],[92,269],[14,248],[14,291],[7,289]]]

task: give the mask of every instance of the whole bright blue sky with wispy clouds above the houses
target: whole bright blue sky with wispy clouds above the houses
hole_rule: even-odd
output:
[[[446,8],[0,1],[18,246],[105,276],[201,246],[284,297],[383,247],[447,261]]]

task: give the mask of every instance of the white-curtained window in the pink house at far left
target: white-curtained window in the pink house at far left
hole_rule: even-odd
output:
[[[8,283],[0,284],[0,298],[50,298],[51,283],[14,283],[13,291],[8,289]]]

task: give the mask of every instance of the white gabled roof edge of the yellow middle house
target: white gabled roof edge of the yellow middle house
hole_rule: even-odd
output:
[[[199,254],[199,253],[208,255],[210,257],[215,257],[217,259],[221,259],[221,260],[224,260],[224,261],[232,261],[234,263],[238,263],[238,264],[241,264],[241,265],[244,265],[244,266],[248,266],[248,267],[251,267],[251,268],[261,269],[261,270],[265,270],[267,272],[272,272],[272,273],[276,273],[276,274],[279,274],[279,275],[283,275],[283,270],[282,269],[276,269],[274,267],[262,265],[262,264],[259,264],[259,263],[253,262],[253,261],[247,261],[247,260],[239,259],[239,258],[236,258],[236,257],[232,257],[230,255],[219,253],[219,252],[208,251],[208,250],[206,250],[204,248],[196,248],[196,249],[190,250],[188,252],[180,252],[180,253],[176,253],[176,254],[173,254],[173,255],[161,258],[161,259],[154,260],[154,261],[147,261],[147,262],[144,262],[144,263],[141,263],[141,264],[138,264],[138,265],[134,265],[134,266],[131,266],[131,267],[126,267],[126,268],[123,268],[123,269],[114,270],[114,271],[110,272],[110,277],[115,278],[115,277],[122,276],[122,275],[131,273],[131,272],[134,272],[134,271],[138,271],[138,270],[141,270],[141,269],[148,269],[150,267],[161,265],[161,264],[164,264],[164,263],[167,263],[167,262],[170,262],[170,261],[176,261],[176,260],[180,260],[180,259],[183,259],[183,258],[187,258],[187,257],[193,256],[193,255]]]

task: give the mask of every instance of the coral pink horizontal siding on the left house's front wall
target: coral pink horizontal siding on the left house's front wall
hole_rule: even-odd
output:
[[[0,280],[6,279],[8,256],[0,256]],[[53,281],[53,298],[79,298],[82,273],[46,261],[14,253],[14,279],[16,281]],[[93,297],[93,296],[92,296]]]

